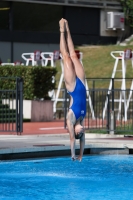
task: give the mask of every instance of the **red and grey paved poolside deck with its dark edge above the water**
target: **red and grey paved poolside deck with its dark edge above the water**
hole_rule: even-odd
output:
[[[79,150],[78,140],[76,149]],[[132,149],[132,137],[86,133],[88,154],[129,154]],[[21,135],[0,133],[0,160],[53,155],[70,155],[69,134],[63,121],[24,123]]]

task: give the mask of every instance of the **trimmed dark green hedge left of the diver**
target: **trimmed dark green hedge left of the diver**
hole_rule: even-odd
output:
[[[54,67],[0,66],[1,77],[23,78],[23,98],[27,100],[50,99],[48,91],[55,89],[56,83],[52,83],[52,76],[56,73]],[[0,81],[0,89],[13,89],[14,86],[14,80]]]

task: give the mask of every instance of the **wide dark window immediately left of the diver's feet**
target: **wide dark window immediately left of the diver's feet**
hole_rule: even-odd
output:
[[[63,7],[35,3],[13,3],[13,29],[20,31],[59,31]]]

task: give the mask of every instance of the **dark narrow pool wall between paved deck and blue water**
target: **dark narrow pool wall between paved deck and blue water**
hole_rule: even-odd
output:
[[[79,154],[79,149],[76,149],[76,155]],[[129,155],[133,154],[133,149],[129,148],[85,148],[84,155]],[[70,149],[65,150],[35,150],[23,152],[7,152],[0,154],[0,160],[15,160],[29,158],[48,158],[71,156]]]

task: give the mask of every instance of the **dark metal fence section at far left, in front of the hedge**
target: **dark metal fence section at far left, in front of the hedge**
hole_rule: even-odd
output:
[[[23,131],[23,80],[0,77],[0,132]]]

